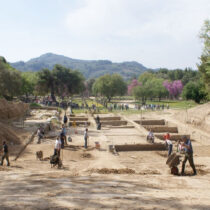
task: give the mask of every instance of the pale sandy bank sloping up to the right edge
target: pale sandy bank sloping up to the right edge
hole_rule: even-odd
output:
[[[210,131],[210,102],[179,112],[174,115],[177,120],[192,124],[207,132]]]

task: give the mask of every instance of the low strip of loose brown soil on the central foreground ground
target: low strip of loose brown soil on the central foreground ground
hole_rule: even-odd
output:
[[[130,168],[122,168],[122,169],[109,169],[109,168],[102,168],[102,169],[92,169],[90,170],[92,173],[99,173],[99,174],[135,174],[136,172]]]

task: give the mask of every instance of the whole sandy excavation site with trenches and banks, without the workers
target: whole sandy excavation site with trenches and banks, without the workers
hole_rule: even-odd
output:
[[[10,166],[6,160],[0,166],[0,209],[209,209],[209,114],[209,103],[187,115],[121,114],[71,113],[0,99],[0,145],[7,142],[10,159]],[[63,124],[66,142],[56,165],[51,159]],[[154,142],[147,140],[149,132]],[[171,173],[167,133],[174,155],[183,136],[191,139],[196,176],[189,162],[180,175],[183,154],[175,165],[178,174]]]

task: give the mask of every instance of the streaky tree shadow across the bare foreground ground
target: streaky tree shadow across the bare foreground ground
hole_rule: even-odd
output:
[[[25,177],[25,180],[18,182],[12,180],[7,185],[0,185],[0,203],[1,208],[4,207],[4,209],[20,209],[19,207],[22,209],[66,209],[57,204],[61,202],[71,203],[76,208],[94,209],[136,209],[142,206],[165,209],[170,209],[171,206],[183,208],[177,198],[161,200],[157,198],[158,196],[141,196],[155,190],[161,193],[160,188],[152,185],[108,178]],[[2,195],[6,195],[7,199]]]

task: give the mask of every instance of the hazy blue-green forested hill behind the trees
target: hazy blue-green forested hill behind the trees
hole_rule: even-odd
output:
[[[148,69],[142,64],[132,62],[113,63],[109,60],[79,60],[63,55],[47,53],[27,62],[10,63],[21,71],[40,71],[43,68],[52,69],[55,64],[60,64],[73,70],[79,70],[86,78],[95,78],[104,74],[119,73],[125,79],[139,76]]]

